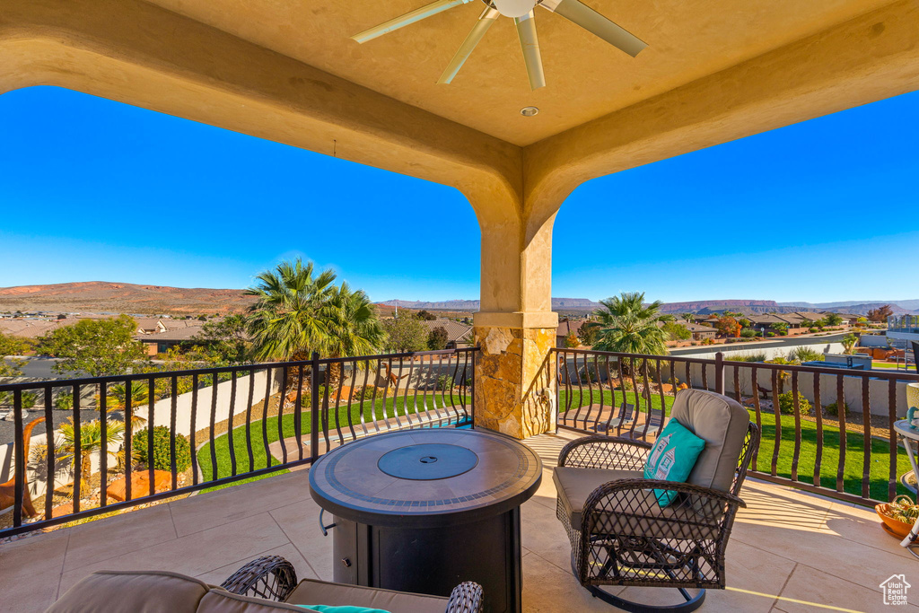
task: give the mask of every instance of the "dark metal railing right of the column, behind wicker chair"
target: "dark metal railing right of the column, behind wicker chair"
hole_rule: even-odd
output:
[[[742,403],[763,440],[751,474],[861,505],[887,502],[909,471],[893,422],[919,375],[770,362],[553,349],[557,425],[654,439],[675,392],[720,392]],[[842,407],[840,409],[840,407]]]

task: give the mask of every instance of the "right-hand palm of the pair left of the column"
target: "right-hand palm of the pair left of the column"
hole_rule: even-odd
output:
[[[320,314],[327,332],[323,350],[330,358],[368,356],[380,350],[386,340],[386,332],[367,294],[360,289],[352,290],[347,283],[332,290]],[[325,377],[330,389],[337,387],[341,364],[330,364]]]

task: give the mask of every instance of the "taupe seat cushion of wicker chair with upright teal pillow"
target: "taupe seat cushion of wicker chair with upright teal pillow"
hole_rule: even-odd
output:
[[[558,466],[552,472],[558,500],[573,528],[584,526],[584,504],[597,487],[623,479],[643,479],[642,471],[614,471]],[[679,519],[679,522],[667,521]],[[687,522],[689,519],[691,521]],[[692,509],[658,505],[652,490],[629,490],[618,500],[604,504],[593,534],[617,534],[630,537],[668,537],[671,539],[715,539],[717,520],[706,519]]]

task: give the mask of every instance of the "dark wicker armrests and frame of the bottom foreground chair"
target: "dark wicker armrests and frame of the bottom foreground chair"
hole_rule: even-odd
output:
[[[336,585],[325,582],[314,583],[326,586]],[[277,555],[257,558],[252,562],[246,563],[221,584],[223,589],[233,594],[266,598],[277,602],[287,602],[288,598],[299,586],[297,573],[294,571],[293,565]],[[352,591],[386,591],[352,585],[342,585],[341,587]],[[355,603],[342,602],[341,604]],[[470,581],[457,585],[450,594],[445,610],[446,613],[482,613],[482,586]]]

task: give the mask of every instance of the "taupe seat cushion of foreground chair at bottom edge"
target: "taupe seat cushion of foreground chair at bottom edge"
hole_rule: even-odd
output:
[[[426,596],[361,585],[333,584],[304,579],[288,597],[289,605],[352,605],[381,608],[393,613],[444,613],[449,598]],[[302,611],[302,609],[301,609]]]

